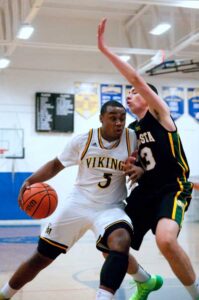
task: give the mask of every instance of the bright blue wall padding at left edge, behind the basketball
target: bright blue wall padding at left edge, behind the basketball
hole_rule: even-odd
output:
[[[18,194],[24,180],[32,173],[0,172],[0,220],[30,219],[18,205]]]

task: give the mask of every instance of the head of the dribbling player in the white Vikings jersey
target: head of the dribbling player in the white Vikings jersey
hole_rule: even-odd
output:
[[[126,121],[126,110],[118,101],[108,101],[103,104],[100,111],[100,122],[102,123],[102,136],[114,141],[122,135]]]

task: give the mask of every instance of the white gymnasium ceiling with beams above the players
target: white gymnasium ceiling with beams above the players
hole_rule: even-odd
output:
[[[193,4],[198,9],[187,7]],[[0,0],[0,56],[10,57],[11,69],[115,72],[96,46],[104,17],[107,43],[118,54],[130,54],[140,71],[153,65],[157,52],[199,61],[197,0]],[[160,21],[172,29],[162,36],[149,34]],[[23,42],[16,39],[22,23],[35,27]]]

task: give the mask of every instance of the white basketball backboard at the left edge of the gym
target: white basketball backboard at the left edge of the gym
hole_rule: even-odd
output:
[[[0,128],[0,158],[24,158],[23,129]]]

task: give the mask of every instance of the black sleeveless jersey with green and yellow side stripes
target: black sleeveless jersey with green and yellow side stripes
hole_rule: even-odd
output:
[[[167,131],[149,111],[129,127],[136,132],[138,159],[145,170],[139,185],[154,189],[186,184],[189,166],[177,130]]]

